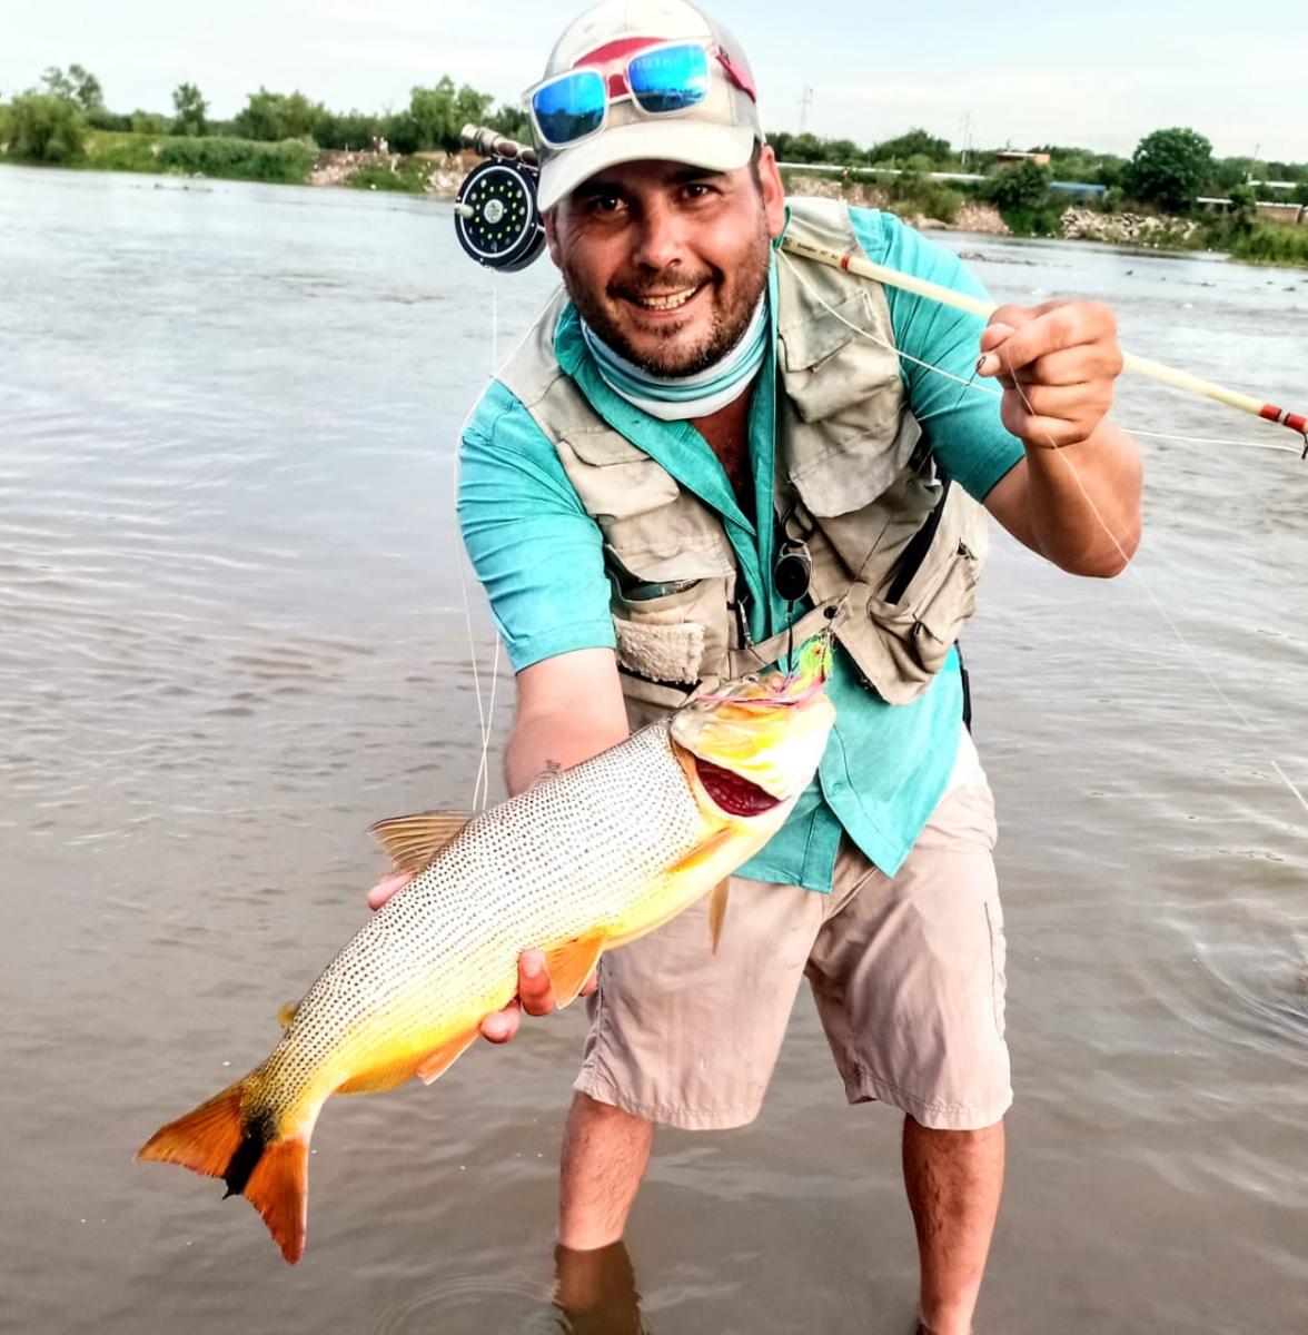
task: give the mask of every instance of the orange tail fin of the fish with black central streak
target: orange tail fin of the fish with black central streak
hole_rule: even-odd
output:
[[[308,1139],[278,1135],[267,1115],[243,1111],[250,1077],[156,1131],[137,1159],[182,1164],[222,1177],[227,1195],[242,1195],[294,1266],[304,1252],[308,1202]]]

